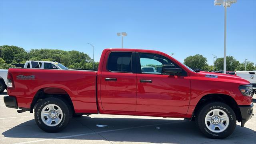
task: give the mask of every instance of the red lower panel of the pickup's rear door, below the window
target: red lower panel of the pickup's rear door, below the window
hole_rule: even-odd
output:
[[[135,112],[136,74],[102,72],[100,98],[104,110]]]

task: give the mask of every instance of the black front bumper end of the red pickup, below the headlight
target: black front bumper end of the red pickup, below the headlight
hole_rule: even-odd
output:
[[[250,106],[239,106],[242,120],[241,120],[241,126],[244,127],[244,124],[252,118],[252,110],[253,110],[253,104]]]

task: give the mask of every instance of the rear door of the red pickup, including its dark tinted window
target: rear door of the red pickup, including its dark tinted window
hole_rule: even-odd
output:
[[[133,52],[107,52],[100,77],[103,110],[136,111],[136,73]],[[135,65],[134,65],[135,66]]]

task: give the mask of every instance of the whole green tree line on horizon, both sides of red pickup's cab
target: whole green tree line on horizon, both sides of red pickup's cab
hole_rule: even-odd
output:
[[[76,50],[50,50],[50,49],[32,49],[28,52],[18,46],[0,46],[0,69],[8,69],[11,64],[24,64],[27,60],[56,61],[70,69],[88,69],[93,68],[93,60],[84,52]],[[98,68],[99,62],[95,62],[94,68]],[[184,64],[190,68],[200,68],[202,70],[213,70],[212,65],[208,65],[207,59],[196,54],[184,59]],[[233,56],[226,57],[226,71],[256,70],[253,62],[239,62]],[[215,70],[223,70],[223,58],[217,58],[214,62]]]

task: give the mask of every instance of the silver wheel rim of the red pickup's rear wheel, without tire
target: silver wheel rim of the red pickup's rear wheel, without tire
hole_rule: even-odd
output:
[[[44,106],[41,112],[42,122],[47,126],[57,126],[63,118],[62,110],[56,104]]]

